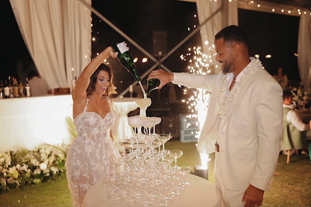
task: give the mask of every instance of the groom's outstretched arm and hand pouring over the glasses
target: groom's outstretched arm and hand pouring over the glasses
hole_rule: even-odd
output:
[[[157,78],[160,80],[159,89],[169,81],[174,84],[183,85],[189,88],[202,88],[212,91],[217,75],[197,75],[190,73],[168,73],[162,69],[152,71],[147,80]]]

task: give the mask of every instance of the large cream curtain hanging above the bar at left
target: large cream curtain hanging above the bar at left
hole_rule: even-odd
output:
[[[52,89],[71,86],[91,61],[91,11],[77,0],[10,3],[40,76]]]

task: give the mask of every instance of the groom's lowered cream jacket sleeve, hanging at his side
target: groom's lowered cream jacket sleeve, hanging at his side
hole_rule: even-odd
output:
[[[283,91],[274,81],[263,86],[255,100],[258,154],[250,184],[269,190],[281,148]]]

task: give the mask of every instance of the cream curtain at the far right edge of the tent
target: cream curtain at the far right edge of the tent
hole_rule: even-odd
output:
[[[298,68],[304,89],[311,87],[311,15],[300,16],[298,32]]]

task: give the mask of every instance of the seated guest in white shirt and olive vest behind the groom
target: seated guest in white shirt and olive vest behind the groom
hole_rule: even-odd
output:
[[[310,133],[311,121],[305,124],[301,121],[298,114],[293,110],[293,97],[290,91],[283,92],[283,136],[281,141],[281,151],[287,155],[287,150],[303,149],[307,142],[307,131]]]

